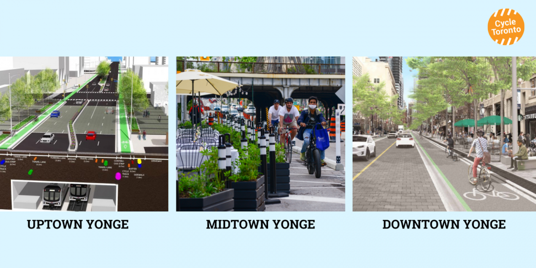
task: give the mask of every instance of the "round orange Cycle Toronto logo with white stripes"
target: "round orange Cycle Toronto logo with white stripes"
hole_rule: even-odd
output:
[[[495,43],[503,46],[516,43],[524,31],[523,18],[513,9],[500,9],[489,17],[488,33]]]

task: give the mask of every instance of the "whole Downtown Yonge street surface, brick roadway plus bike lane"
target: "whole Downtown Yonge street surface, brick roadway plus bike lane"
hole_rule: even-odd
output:
[[[536,193],[497,174],[492,190],[475,189],[468,182],[471,161],[446,158],[444,147],[426,138],[416,139],[415,148],[396,148],[395,142],[377,138],[376,157],[354,157],[353,178],[359,174],[353,180],[354,211],[536,210]]]

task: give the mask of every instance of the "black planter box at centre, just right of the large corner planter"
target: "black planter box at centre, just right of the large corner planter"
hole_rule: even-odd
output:
[[[231,182],[235,211],[264,211],[264,175],[256,181]]]

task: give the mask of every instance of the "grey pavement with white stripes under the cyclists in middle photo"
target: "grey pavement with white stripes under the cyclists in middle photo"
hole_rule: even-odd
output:
[[[301,145],[301,140],[296,139],[296,146],[301,148]],[[344,152],[341,153],[344,155]],[[325,154],[330,158],[335,155],[334,143],[330,144]],[[341,158],[344,163],[344,157]],[[307,167],[300,160],[300,154],[293,153],[290,195],[281,198],[281,204],[266,205],[266,211],[345,211],[345,193],[344,170],[324,166],[322,176],[316,178],[314,174],[309,175]]]

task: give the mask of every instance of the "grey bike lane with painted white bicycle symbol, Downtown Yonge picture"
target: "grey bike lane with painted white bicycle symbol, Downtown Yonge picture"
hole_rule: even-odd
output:
[[[458,155],[459,161],[446,158],[444,147],[428,140],[418,138],[413,133],[416,146],[420,146],[437,173],[449,185],[450,191],[456,196],[466,211],[536,211],[536,193],[529,192],[517,185],[506,182],[503,178],[492,173],[492,188],[479,191],[468,181],[468,169],[471,160]],[[474,153],[473,153],[474,154]]]

